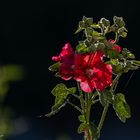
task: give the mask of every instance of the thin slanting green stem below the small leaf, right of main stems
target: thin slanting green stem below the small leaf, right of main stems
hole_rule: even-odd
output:
[[[103,123],[104,123],[104,120],[105,120],[105,117],[106,117],[106,114],[107,114],[107,111],[108,111],[108,107],[109,107],[109,104],[107,104],[107,105],[104,107],[104,110],[103,110],[103,113],[102,113],[100,122],[99,122],[99,124],[98,124],[98,131],[99,131],[99,132],[100,132],[101,129],[102,129],[102,126],[103,126]]]

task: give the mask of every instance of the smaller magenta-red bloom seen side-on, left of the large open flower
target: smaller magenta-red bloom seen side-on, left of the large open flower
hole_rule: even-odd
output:
[[[52,60],[60,62],[59,73],[61,78],[69,80],[73,76],[74,51],[69,43],[66,43],[58,56],[53,56]]]

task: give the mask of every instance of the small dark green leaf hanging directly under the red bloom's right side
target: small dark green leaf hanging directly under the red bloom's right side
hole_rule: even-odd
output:
[[[99,99],[102,106],[106,106],[108,103],[113,102],[113,94],[109,90],[99,92]]]

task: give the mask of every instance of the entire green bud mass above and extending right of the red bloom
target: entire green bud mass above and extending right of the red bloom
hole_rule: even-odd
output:
[[[98,24],[93,23],[92,18],[83,17],[79,22],[79,27],[76,33],[84,31],[85,40],[80,41],[76,47],[76,52],[86,53],[91,50],[102,50],[109,58],[108,63],[113,67],[114,74],[126,73],[129,70],[136,70],[140,66],[140,62],[134,60],[135,55],[127,48],[123,48],[119,53],[112,49],[117,45],[119,38],[127,36],[127,29],[122,17],[113,18],[114,24],[111,25],[110,21],[101,18]],[[113,32],[115,34],[114,43],[107,40],[107,35]]]

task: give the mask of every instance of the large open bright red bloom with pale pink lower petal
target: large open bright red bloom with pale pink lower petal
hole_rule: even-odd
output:
[[[74,79],[84,92],[102,91],[112,84],[112,67],[103,62],[103,56],[101,51],[75,55]]]

